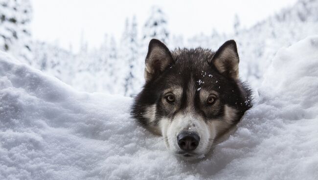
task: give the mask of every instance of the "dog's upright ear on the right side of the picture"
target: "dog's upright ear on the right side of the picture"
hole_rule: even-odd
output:
[[[213,64],[221,74],[229,78],[238,79],[239,56],[235,41],[229,40],[221,45],[215,52],[211,64]]]

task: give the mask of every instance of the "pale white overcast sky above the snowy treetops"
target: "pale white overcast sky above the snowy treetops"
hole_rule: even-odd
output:
[[[136,15],[138,30],[153,5],[162,8],[172,35],[184,38],[212,29],[231,33],[235,14],[243,27],[292,6],[296,0],[31,0],[32,36],[77,52],[81,39],[90,48],[98,47],[105,34],[117,40],[126,18]]]

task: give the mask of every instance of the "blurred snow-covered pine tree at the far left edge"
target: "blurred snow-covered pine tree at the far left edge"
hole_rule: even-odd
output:
[[[31,64],[30,0],[0,0],[0,50]]]

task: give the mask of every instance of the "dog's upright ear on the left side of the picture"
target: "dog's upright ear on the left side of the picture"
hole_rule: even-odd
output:
[[[159,40],[152,39],[149,43],[146,56],[146,82],[149,82],[152,78],[158,76],[171,63],[173,63],[173,58],[168,47]]]

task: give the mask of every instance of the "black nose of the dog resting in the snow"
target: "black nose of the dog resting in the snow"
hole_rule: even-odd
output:
[[[193,151],[198,147],[200,137],[194,132],[182,132],[177,135],[177,141],[183,151]]]

